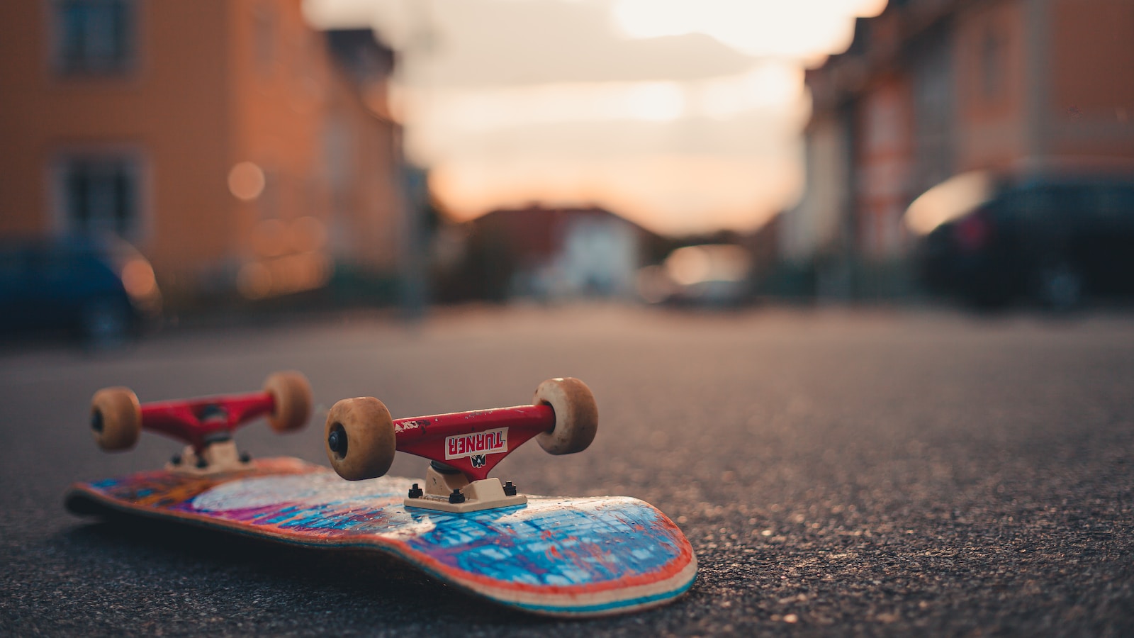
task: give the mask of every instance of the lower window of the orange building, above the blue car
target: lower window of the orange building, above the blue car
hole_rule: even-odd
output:
[[[82,235],[111,233],[135,237],[139,230],[141,169],[135,158],[83,156],[59,163],[62,229]]]

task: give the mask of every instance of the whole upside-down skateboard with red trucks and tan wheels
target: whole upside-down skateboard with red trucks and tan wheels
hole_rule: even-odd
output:
[[[92,401],[103,450],[126,450],[142,429],[186,443],[166,468],[78,482],[73,513],[127,513],[307,547],[372,549],[507,607],[556,616],[644,610],[686,591],[697,563],[663,513],[631,497],[521,494],[489,471],[535,438],[552,454],[584,450],[598,409],[577,379],[549,379],[533,405],[392,419],[373,397],[328,413],[331,468],[290,457],[252,459],[232,431],[266,417],[277,431],[303,426],[311,391],[278,372],[246,395],[139,404],[126,388]],[[396,451],[430,460],[425,479],[383,476]],[[344,480],[347,479],[347,480]]]

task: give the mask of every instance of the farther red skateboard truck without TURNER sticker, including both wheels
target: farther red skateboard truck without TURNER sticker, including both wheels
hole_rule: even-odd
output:
[[[91,398],[91,433],[107,452],[137,444],[142,430],[186,444],[167,469],[210,473],[248,467],[232,442],[236,428],[260,417],[277,433],[303,428],[311,418],[311,384],[295,371],[273,372],[261,392],[138,403],[126,387],[108,387]]]

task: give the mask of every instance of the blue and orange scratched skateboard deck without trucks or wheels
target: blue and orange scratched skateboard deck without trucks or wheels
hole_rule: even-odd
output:
[[[643,501],[528,496],[526,505],[448,513],[406,507],[415,480],[347,481],[297,459],[262,459],[220,475],[162,470],[79,482],[67,507],[308,547],[373,549],[501,605],[557,616],[661,605],[696,577],[688,540]]]

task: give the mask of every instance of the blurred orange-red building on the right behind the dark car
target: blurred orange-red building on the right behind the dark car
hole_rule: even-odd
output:
[[[780,249],[821,294],[900,288],[902,216],[953,175],[1134,160],[1132,0],[890,0],[806,81]]]

